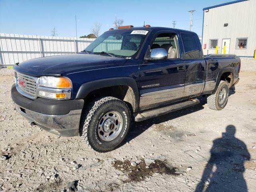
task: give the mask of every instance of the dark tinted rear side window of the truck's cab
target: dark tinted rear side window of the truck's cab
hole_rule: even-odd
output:
[[[181,33],[181,39],[184,46],[185,58],[199,58],[199,47],[193,34]]]

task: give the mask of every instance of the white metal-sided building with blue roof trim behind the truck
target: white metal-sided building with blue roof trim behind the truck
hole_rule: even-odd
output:
[[[256,0],[236,0],[203,9],[204,54],[253,57],[256,49]]]

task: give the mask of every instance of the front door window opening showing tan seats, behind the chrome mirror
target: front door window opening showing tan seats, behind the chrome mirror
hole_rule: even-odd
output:
[[[167,52],[167,59],[179,58],[176,36],[173,33],[162,33],[159,34],[150,49],[164,48]]]

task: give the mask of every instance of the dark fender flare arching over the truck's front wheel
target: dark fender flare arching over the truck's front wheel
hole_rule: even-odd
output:
[[[76,99],[84,99],[86,96],[97,89],[107,88],[111,86],[129,86],[134,92],[135,106],[134,111],[138,110],[139,106],[139,91],[138,86],[134,78],[131,77],[118,77],[118,78],[107,78],[86,82],[80,86],[76,94]]]

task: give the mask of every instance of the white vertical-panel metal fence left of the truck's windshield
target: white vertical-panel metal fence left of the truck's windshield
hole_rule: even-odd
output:
[[[0,65],[13,65],[39,57],[75,54],[84,50],[94,40],[0,33]]]

